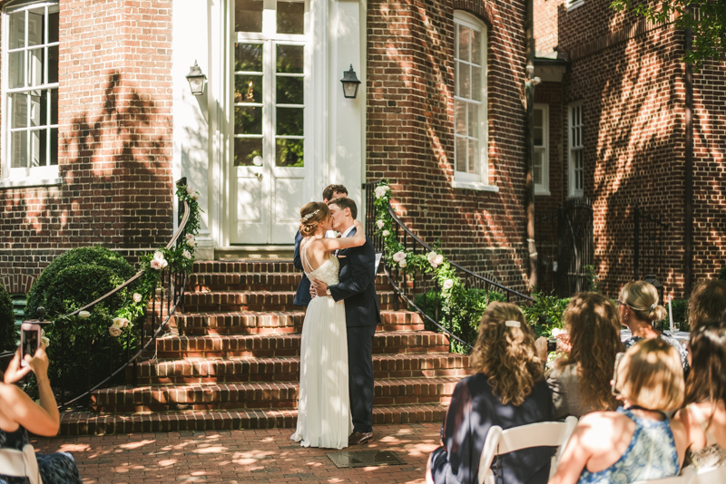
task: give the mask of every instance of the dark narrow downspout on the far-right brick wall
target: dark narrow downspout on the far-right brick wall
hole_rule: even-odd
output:
[[[684,37],[685,52],[691,52],[693,34],[686,29]],[[685,170],[684,177],[684,245],[683,245],[683,279],[685,283],[685,296],[691,295],[693,288],[693,67],[691,63],[685,65]]]

